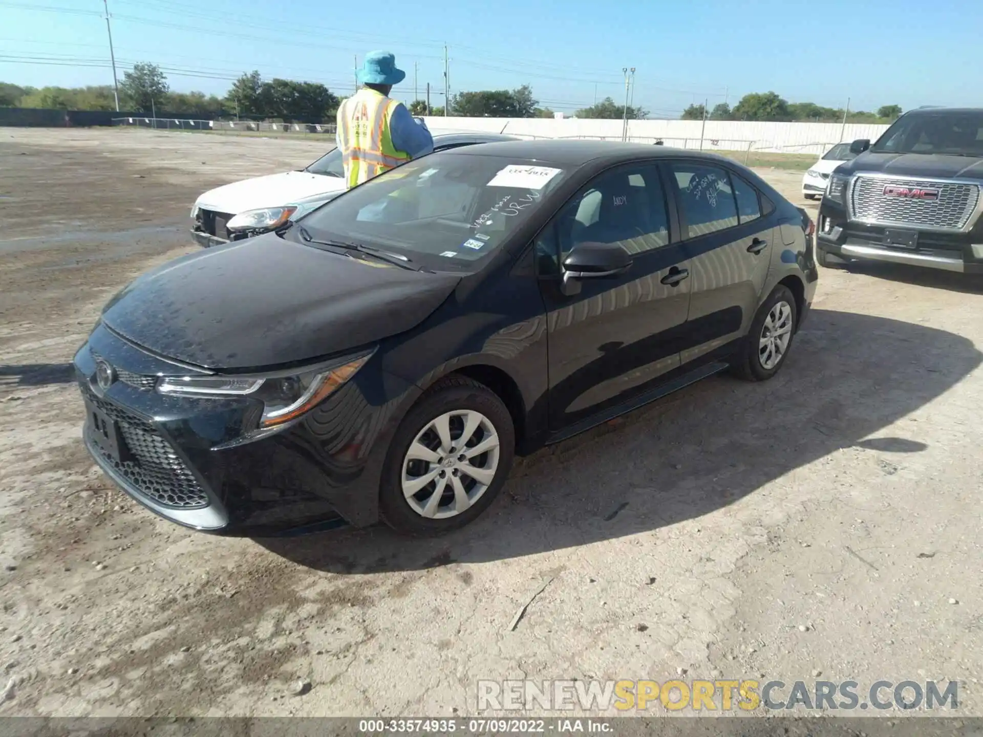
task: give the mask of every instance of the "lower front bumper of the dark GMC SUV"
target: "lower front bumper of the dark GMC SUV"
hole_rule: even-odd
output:
[[[919,231],[917,248],[886,245],[884,236],[884,228],[849,221],[841,204],[823,198],[816,223],[818,251],[846,261],[888,261],[958,273],[983,273],[983,232],[979,223],[969,233]]]

